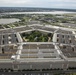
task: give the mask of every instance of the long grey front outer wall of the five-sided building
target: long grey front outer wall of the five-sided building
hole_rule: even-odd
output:
[[[28,62],[28,63],[0,63],[0,69],[67,69],[76,67],[75,62]]]

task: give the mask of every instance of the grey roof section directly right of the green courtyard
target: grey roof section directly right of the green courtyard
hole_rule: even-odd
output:
[[[75,35],[57,34],[57,42],[63,44],[76,45]]]

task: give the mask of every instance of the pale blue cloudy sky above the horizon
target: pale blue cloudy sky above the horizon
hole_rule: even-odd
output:
[[[42,7],[76,9],[76,0],[0,0],[0,7]]]

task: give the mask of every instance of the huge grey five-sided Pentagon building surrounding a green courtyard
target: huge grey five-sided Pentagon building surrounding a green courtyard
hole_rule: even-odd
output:
[[[52,33],[51,42],[23,42],[21,33]],[[43,70],[76,67],[76,32],[48,25],[0,30],[0,69]]]

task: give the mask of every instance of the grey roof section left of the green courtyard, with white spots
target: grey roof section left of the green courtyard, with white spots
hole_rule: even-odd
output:
[[[0,34],[0,45],[14,44],[18,42],[17,34],[15,33]]]

